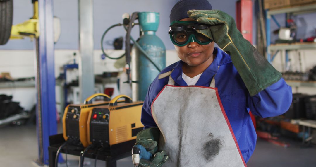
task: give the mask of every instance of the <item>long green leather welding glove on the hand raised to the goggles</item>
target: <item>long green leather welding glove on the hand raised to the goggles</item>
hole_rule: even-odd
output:
[[[197,30],[228,53],[250,96],[258,94],[281,78],[277,71],[252,44],[244,39],[234,18],[220,10],[189,10],[190,18],[209,24],[210,29]]]

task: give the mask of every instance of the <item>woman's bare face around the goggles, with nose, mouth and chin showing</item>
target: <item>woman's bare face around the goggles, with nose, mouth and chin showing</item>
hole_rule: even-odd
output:
[[[180,21],[195,21],[191,18],[181,19]],[[174,45],[178,57],[190,66],[197,66],[205,63],[213,56],[214,42],[200,45],[197,42],[189,42],[185,46]]]

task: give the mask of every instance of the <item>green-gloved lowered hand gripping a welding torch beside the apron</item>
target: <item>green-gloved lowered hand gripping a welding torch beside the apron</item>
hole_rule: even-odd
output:
[[[140,167],[160,167],[168,159],[165,151],[158,152],[157,141],[159,140],[160,130],[157,127],[151,127],[137,133],[136,146],[141,150]],[[141,147],[143,146],[146,151]],[[149,156],[148,152],[153,155]],[[145,158],[145,159],[142,159]],[[148,159],[149,158],[149,159]]]

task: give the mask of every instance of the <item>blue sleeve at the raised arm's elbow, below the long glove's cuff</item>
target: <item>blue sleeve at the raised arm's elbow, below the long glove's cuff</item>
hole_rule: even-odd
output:
[[[281,78],[255,96],[248,94],[248,106],[253,114],[262,118],[274,117],[289,110],[292,96],[292,88]]]

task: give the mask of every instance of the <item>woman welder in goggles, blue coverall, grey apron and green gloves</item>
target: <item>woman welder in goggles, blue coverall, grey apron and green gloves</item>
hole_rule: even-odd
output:
[[[291,87],[207,0],[180,0],[170,22],[181,60],[149,87],[136,146],[150,154],[139,166],[246,166],[257,138],[249,110],[283,114]]]

